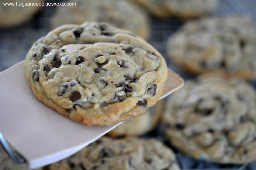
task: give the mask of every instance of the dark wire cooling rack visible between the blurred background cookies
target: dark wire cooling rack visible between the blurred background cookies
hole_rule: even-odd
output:
[[[52,0],[51,2],[59,2]],[[0,4],[2,5],[2,4]],[[228,13],[250,14],[256,18],[255,0],[220,0],[219,6],[215,12],[216,15]],[[0,28],[0,71],[3,71],[12,65],[25,59],[28,50],[32,44],[40,37],[46,35],[49,31],[49,18],[54,13],[55,7],[43,7],[35,17],[21,27],[13,29]],[[155,47],[166,59],[169,68],[179,73],[184,80],[193,78],[184,70],[173,64],[166,53],[166,42],[168,37],[182,26],[184,20],[169,18],[159,19],[151,17],[151,38],[149,43]],[[255,82],[253,82],[255,85]],[[150,133],[142,136],[143,138],[156,138],[173,149],[181,169],[184,170],[251,170],[256,169],[256,162],[245,165],[215,164],[204,161],[194,160],[176,150],[170,145],[163,134],[161,124]]]

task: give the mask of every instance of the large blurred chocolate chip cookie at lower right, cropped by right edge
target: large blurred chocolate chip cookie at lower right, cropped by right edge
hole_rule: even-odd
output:
[[[242,79],[203,74],[187,81],[171,96],[162,121],[171,144],[195,159],[256,160],[256,92]]]

